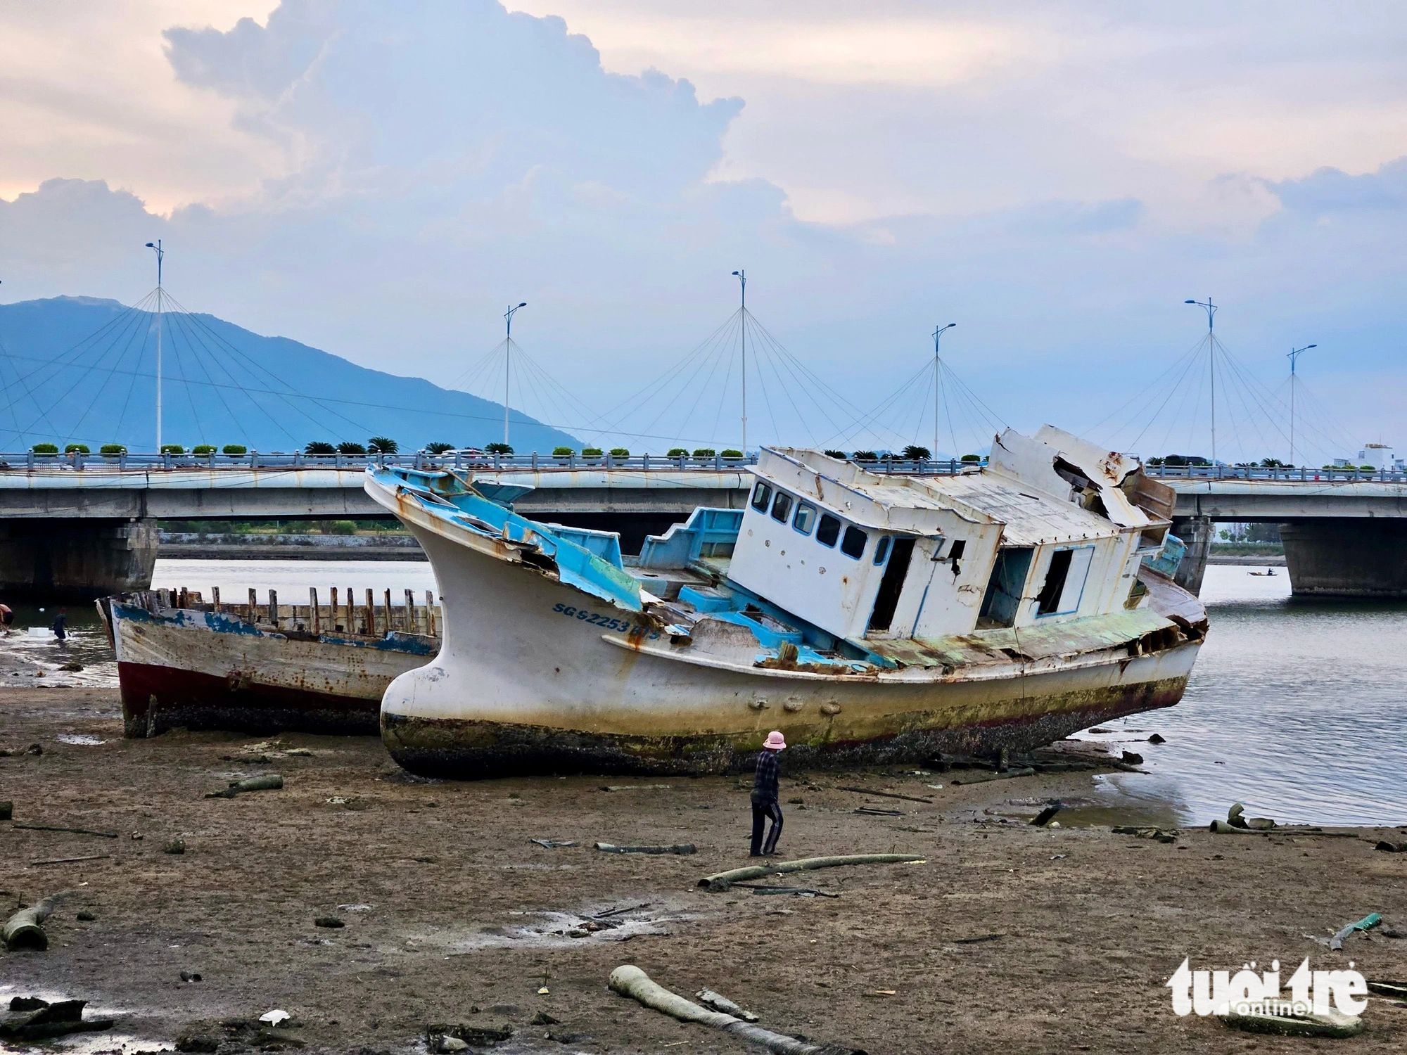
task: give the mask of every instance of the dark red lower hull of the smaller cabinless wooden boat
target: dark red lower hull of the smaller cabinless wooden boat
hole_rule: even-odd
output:
[[[122,731],[131,737],[167,729],[234,729],[269,736],[281,731],[374,736],[380,698],[356,699],[279,685],[239,682],[212,674],[120,663]]]

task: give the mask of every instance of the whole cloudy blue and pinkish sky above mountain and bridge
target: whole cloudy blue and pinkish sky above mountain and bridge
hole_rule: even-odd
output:
[[[1313,343],[1296,457],[1401,452],[1404,45],[1392,3],[7,3],[0,300],[135,302],[162,238],[194,311],[497,399],[526,301],[512,402],[637,452],[740,445],[746,350],[750,447],[1206,454],[1214,394],[1218,457],[1286,459]]]

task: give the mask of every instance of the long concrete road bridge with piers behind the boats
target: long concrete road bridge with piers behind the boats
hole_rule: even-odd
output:
[[[698,505],[740,508],[749,459],[494,459],[456,463],[526,516],[619,530],[628,551]],[[0,592],[94,596],[149,585],[159,520],[380,516],[363,459],[0,454]],[[879,463],[951,474],[958,463]],[[1154,470],[1178,491],[1173,533],[1189,543],[1179,578],[1200,588],[1216,522],[1280,525],[1296,594],[1407,596],[1407,475],[1316,470]]]

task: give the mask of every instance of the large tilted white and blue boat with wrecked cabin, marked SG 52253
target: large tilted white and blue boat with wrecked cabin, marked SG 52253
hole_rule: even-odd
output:
[[[798,765],[1024,751],[1176,703],[1206,612],[1173,492],[1051,426],[891,475],[764,449],[743,509],[646,539],[545,525],[470,474],[369,467],[419,539],[443,647],[381,737],[429,775],[720,772],[772,729]]]

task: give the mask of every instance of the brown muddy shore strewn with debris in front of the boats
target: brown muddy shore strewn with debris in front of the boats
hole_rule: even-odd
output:
[[[23,753],[35,743],[42,754]],[[492,1048],[505,1055],[756,1051],[612,995],[620,964],[685,996],[719,990],[768,1028],[874,1054],[1407,1045],[1407,1009],[1384,1000],[1361,1037],[1304,1041],[1179,1018],[1164,987],[1185,957],[1233,972],[1278,958],[1285,976],[1309,957],[1407,978],[1407,940],[1370,931],[1330,952],[1304,937],[1369,912],[1407,930],[1407,854],[1373,850],[1407,838],[1399,830],[1185,830],[1165,844],[1081,826],[1078,809],[1058,830],[1026,823],[1045,799],[1086,795],[1086,772],[957,786],[958,774],[784,764],[781,858],[896,851],[927,864],[778,881],[839,897],[706,893],[701,876],[749,864],[736,778],[432,782],[407,778],[374,738],[124,740],[115,691],[91,688],[0,691],[0,747],[15,751],[0,757],[15,821],[120,836],[0,823],[6,914],[69,892],[46,952],[0,952],[0,999],[77,997],[118,1018],[113,1034],[68,1042],[76,1051],[170,1049],[179,1035],[249,1049],[218,1023],[272,1009],[293,1014],[287,1032],[308,1052],[424,1051],[426,1023],[511,1027]],[[283,791],[203,798],[266,772]],[[163,852],[172,840],[183,854]],[[698,852],[602,854],[598,840]],[[91,854],[108,857],[32,864]],[[582,927],[613,909],[626,909],[606,917],[620,926]],[[315,926],[324,916],[345,926]]]

